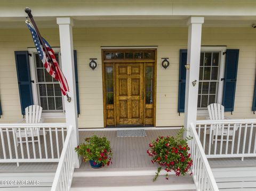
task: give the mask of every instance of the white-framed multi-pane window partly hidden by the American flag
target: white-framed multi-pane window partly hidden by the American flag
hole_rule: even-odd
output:
[[[60,63],[60,49],[53,49],[56,60]],[[29,51],[30,73],[33,87],[34,103],[43,107],[44,113],[63,113],[64,104],[59,82],[44,69],[43,63],[35,49]]]

